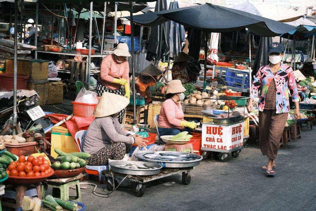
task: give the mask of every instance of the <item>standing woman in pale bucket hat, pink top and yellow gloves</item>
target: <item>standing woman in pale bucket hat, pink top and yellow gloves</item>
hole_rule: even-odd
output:
[[[124,86],[124,96],[130,99],[130,68],[126,57],[131,57],[126,43],[119,43],[112,54],[104,57],[97,83],[97,94],[99,97],[104,92],[123,96],[122,86]],[[125,108],[118,112],[119,123],[122,123],[124,114]]]

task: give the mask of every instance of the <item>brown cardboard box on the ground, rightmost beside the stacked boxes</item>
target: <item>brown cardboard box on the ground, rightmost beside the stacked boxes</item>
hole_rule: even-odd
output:
[[[64,83],[61,81],[50,81],[48,86],[47,104],[63,103]]]

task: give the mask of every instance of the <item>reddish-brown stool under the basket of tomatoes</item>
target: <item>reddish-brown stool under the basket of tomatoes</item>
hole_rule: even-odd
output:
[[[37,197],[41,199],[40,183],[35,183],[33,185],[37,190]],[[26,191],[30,185],[12,184],[12,186],[15,189],[15,204],[10,202],[4,202],[2,198],[1,202],[3,206],[15,208],[15,210],[17,210],[19,207],[21,207],[23,196],[27,195]]]

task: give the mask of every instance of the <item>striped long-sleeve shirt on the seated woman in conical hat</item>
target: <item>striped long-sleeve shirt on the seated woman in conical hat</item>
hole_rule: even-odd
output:
[[[134,138],[126,136],[127,134],[128,132],[120,126],[117,117],[106,116],[95,118],[85,135],[82,147],[83,152],[94,154],[115,142],[132,144]]]

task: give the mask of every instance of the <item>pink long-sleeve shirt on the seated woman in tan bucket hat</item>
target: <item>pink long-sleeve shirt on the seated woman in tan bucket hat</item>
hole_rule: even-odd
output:
[[[185,121],[181,104],[178,104],[171,98],[167,99],[160,109],[158,127],[183,130],[183,127],[180,127],[181,121]]]

